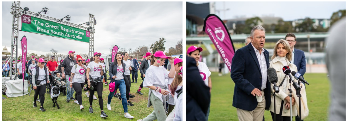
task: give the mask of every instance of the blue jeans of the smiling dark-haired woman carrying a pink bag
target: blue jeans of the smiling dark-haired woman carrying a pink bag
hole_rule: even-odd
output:
[[[111,83],[111,82],[110,82]],[[121,98],[122,98],[122,106],[123,106],[123,110],[125,111],[125,113],[128,113],[128,107],[127,107],[127,99],[126,99],[126,84],[125,84],[125,80],[115,80],[115,87],[114,87],[114,91],[109,93],[108,96],[108,104],[111,103],[111,99],[113,97],[113,95],[115,94],[117,88],[120,90],[120,94],[121,94]]]

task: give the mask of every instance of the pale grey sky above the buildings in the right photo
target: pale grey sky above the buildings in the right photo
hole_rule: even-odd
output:
[[[207,3],[207,2],[191,2]],[[224,12],[215,13],[221,19],[232,19],[236,16],[273,15],[282,17],[284,21],[293,21],[305,17],[329,19],[335,11],[346,9],[346,2],[215,2],[216,9],[229,8]]]

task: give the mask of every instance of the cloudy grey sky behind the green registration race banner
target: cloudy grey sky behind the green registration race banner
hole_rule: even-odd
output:
[[[10,14],[12,2],[2,2],[2,47],[11,44]],[[150,46],[159,38],[165,38],[168,50],[183,37],[182,2],[21,2],[21,7],[38,12],[47,7],[47,16],[63,18],[71,16],[71,23],[89,21],[89,13],[95,15],[94,51],[109,54],[115,44],[120,48]],[[42,13],[41,13],[42,14]],[[86,25],[84,25],[86,26]],[[28,52],[45,55],[51,48],[58,54],[88,53],[89,43],[19,31],[18,53],[21,54],[21,38],[28,40]]]

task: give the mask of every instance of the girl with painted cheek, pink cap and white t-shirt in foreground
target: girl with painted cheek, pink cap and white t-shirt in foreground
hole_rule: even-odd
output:
[[[164,61],[168,59],[171,63],[171,67],[174,68],[174,61],[172,57],[166,56],[163,51],[156,51],[151,56],[151,66],[147,69],[143,86],[149,89],[148,107],[153,106],[153,112],[142,120],[138,121],[165,121],[166,115],[166,96],[170,94],[170,91],[166,87],[165,79],[174,77],[174,69],[167,71],[162,65]],[[155,105],[163,104],[163,105]]]

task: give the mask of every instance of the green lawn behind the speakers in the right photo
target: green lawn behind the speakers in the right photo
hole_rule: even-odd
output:
[[[218,76],[212,72],[212,97],[209,121],[238,121],[237,109],[232,106],[235,83],[229,74]],[[306,87],[309,115],[304,121],[327,121],[330,84],[326,74],[305,74],[310,83]],[[265,121],[272,121],[269,111],[264,113]],[[293,117],[295,121],[295,117]]]

